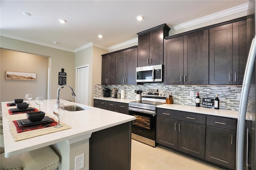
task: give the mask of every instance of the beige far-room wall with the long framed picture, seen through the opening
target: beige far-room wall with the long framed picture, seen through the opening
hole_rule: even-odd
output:
[[[40,55],[0,49],[1,55],[1,100],[25,99],[26,93],[32,94],[32,99],[42,96],[47,99],[48,59]],[[6,80],[6,71],[36,73],[36,81]],[[39,89],[38,89],[39,88]],[[25,99],[26,100],[26,99]]]

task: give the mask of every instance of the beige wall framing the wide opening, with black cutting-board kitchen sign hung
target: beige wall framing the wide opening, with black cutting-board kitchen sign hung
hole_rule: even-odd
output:
[[[47,64],[46,67],[48,67],[48,65],[50,65],[50,81],[49,81],[50,96],[49,96],[49,99],[57,98],[57,89],[58,89],[58,87],[60,87],[58,85],[58,72],[61,72],[62,68],[64,68],[65,69],[64,72],[67,73],[66,83],[68,85],[71,85],[72,87],[74,87],[74,84],[75,84],[74,83],[75,82],[75,72],[74,72],[74,70],[75,70],[74,69],[75,53],[70,52],[70,51],[56,49],[56,48],[46,47],[46,46],[38,45],[38,44],[34,44],[34,43],[23,42],[20,40],[6,38],[6,37],[2,37],[2,36],[0,39],[0,47],[5,48],[5,49],[10,49],[13,51],[20,51],[20,52],[24,52],[24,53],[41,55],[44,57],[50,57],[49,62],[46,63]],[[2,67],[3,67],[3,65],[6,65],[8,63],[4,63],[4,62],[2,63],[2,56],[0,56],[0,59],[1,59],[1,77],[2,77],[2,75],[4,74],[3,71],[5,71],[4,69],[2,69]],[[37,63],[37,64],[40,65],[42,63]],[[9,70],[9,68],[5,68],[5,69]],[[32,72],[35,72],[35,71],[32,71]],[[10,87],[6,87],[7,89],[2,89],[3,83],[4,83],[4,80],[1,78],[1,80],[0,80],[1,91],[2,90],[10,91],[10,93],[13,93],[12,88],[10,88]],[[40,83],[38,83],[37,88],[38,88],[38,91],[40,91],[42,88],[45,88],[45,87],[43,87]],[[2,93],[3,92],[1,92],[1,94],[0,94],[1,102],[4,101],[2,99]],[[32,96],[35,97],[34,94],[32,94]],[[33,99],[35,99],[34,97],[33,97]],[[69,88],[65,87],[65,88],[61,89],[60,99],[74,101]]]

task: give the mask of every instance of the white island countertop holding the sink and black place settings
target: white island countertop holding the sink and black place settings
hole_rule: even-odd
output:
[[[56,99],[44,100],[44,103],[41,105],[41,110],[56,118],[56,116],[52,113],[52,109],[56,101]],[[13,101],[2,102],[2,111],[4,111],[6,103],[11,102]],[[34,107],[39,109],[35,101],[30,101],[30,103],[34,105]],[[64,103],[64,105],[81,105],[65,100],[60,100],[60,103]],[[2,113],[5,157],[14,156],[16,154],[28,152],[30,150],[35,150],[37,148],[42,148],[44,146],[49,146],[65,140],[74,140],[76,138],[81,138],[82,136],[86,135],[90,136],[92,132],[120,125],[122,123],[126,123],[135,119],[135,117],[130,115],[120,114],[113,111],[107,111],[104,109],[98,109],[96,107],[90,107],[86,105],[82,106],[89,109],[74,112],[65,111],[64,114],[60,117],[60,121],[65,123],[66,125],[69,125],[71,127],[70,129],[45,134],[25,140],[20,140],[17,142],[14,141],[10,133],[8,120],[5,113]],[[24,119],[26,119],[26,114],[22,115],[24,115]]]

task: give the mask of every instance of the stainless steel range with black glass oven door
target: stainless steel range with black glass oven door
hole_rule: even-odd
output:
[[[129,102],[132,121],[132,138],[150,146],[156,146],[156,106],[165,103],[166,93],[142,92],[141,101]]]

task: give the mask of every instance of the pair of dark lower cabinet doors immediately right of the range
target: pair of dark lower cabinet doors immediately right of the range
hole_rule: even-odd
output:
[[[205,125],[157,117],[156,142],[204,159]]]

